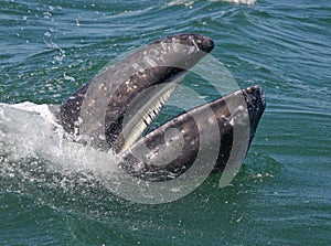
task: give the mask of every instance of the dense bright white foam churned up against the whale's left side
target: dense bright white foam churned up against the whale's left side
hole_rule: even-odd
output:
[[[36,157],[72,170],[109,172],[117,158],[66,140],[49,105],[0,104],[0,156],[12,161]]]

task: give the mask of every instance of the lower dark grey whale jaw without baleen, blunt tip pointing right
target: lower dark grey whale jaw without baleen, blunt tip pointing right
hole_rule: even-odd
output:
[[[245,158],[265,110],[261,87],[248,87],[164,122],[124,153],[121,169],[147,181],[175,179],[192,165],[222,171]],[[236,160],[235,161],[243,161]]]

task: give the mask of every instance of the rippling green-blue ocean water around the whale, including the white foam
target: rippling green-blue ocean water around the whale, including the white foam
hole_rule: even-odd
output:
[[[330,245],[330,13],[327,0],[2,0],[0,245]],[[266,111],[231,185],[212,174],[172,203],[128,202],[94,175],[102,153],[62,140],[46,105],[186,32],[214,40],[239,87],[263,86]]]

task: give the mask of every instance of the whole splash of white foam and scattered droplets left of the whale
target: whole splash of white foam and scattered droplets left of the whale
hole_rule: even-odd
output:
[[[116,205],[117,158],[73,141],[52,108],[0,104],[0,192],[84,216]]]

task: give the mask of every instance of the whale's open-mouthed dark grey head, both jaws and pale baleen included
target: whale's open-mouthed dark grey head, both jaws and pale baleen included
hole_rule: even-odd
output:
[[[163,49],[163,43],[179,43],[188,47],[188,51],[167,46],[166,52],[162,51],[156,57],[151,55],[152,63],[157,64],[154,67],[140,63],[148,52],[154,52],[153,45],[161,44]],[[87,139],[93,139],[89,145],[95,148],[113,149],[120,154],[122,161],[119,165],[128,173],[149,181],[174,179],[189,170],[196,159],[200,159],[202,169],[212,164],[215,171],[222,170],[232,154],[246,154],[254,138],[266,106],[264,92],[258,86],[196,107],[164,122],[148,135],[141,135],[163,104],[158,96],[161,98],[171,94],[186,72],[212,51],[213,46],[213,41],[206,36],[180,34],[140,50],[84,85],[61,106],[60,119],[64,129],[71,133],[82,133],[79,117],[84,114],[83,101],[88,98],[86,95],[89,87],[102,82],[102,89],[94,93],[100,93],[99,97],[107,101],[106,108],[102,109],[105,110],[105,117],[103,121],[96,122],[102,127],[95,129],[95,126],[90,126],[84,135]],[[124,66],[137,66],[137,63],[143,69],[131,69],[129,75],[124,69],[124,78],[119,78]],[[139,101],[148,106],[142,113]],[[93,107],[87,109],[94,110]],[[143,117],[136,117],[139,114]],[[138,126],[137,132],[131,126]],[[130,136],[130,130],[134,131],[134,137]],[[104,139],[97,137],[100,132],[104,133]]]

